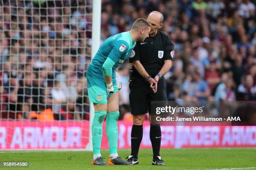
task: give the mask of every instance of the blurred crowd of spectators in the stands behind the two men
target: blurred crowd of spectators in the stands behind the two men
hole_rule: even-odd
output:
[[[90,4],[2,2],[0,118],[88,119]],[[164,15],[161,30],[175,45],[165,75],[168,100],[256,100],[253,0],[102,0],[101,39],[129,30],[153,10]],[[120,119],[129,119],[130,68],[125,61],[118,74]]]

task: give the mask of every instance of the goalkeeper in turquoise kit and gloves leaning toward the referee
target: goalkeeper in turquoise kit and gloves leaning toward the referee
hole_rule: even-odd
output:
[[[115,70],[131,54],[136,41],[143,42],[148,37],[150,24],[143,18],[134,21],[128,32],[113,35],[105,40],[87,69],[87,88],[95,115],[92,122],[92,165],[131,165],[118,156],[118,117],[120,82],[116,81]],[[102,124],[106,120],[110,158],[106,163],[100,155]]]

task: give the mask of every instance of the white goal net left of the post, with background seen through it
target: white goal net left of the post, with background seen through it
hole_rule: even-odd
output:
[[[92,0],[0,0],[0,149],[85,149]]]

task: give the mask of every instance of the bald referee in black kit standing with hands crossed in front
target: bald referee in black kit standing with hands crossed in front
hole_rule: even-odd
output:
[[[148,15],[151,24],[149,37],[137,42],[130,55],[133,63],[130,75],[130,104],[133,115],[131,131],[131,155],[127,161],[138,164],[138,150],[143,136],[145,113],[149,113],[150,140],[153,148],[152,165],[165,165],[160,157],[161,128],[151,120],[151,101],[166,101],[166,80],[163,75],[172,66],[174,44],[168,35],[160,31],[163,15],[153,11]],[[153,117],[153,116],[152,116]]]

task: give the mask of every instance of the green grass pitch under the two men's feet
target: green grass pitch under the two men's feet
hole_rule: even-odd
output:
[[[118,150],[118,153],[125,158],[130,150]],[[107,161],[108,150],[102,150],[101,154]],[[92,152],[87,151],[0,151],[0,161],[29,162],[28,168],[18,170],[256,170],[256,148],[161,149],[160,154],[166,166],[151,165],[151,149],[141,149],[139,165],[132,166],[93,166],[90,165]],[[13,168],[0,168],[5,169]]]

